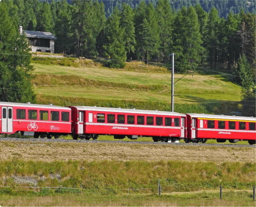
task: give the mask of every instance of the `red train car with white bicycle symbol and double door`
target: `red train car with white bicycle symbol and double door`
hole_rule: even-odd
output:
[[[0,134],[59,138],[71,134],[71,109],[54,105],[0,102]]]

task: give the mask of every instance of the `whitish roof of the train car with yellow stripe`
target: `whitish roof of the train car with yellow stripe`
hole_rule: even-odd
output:
[[[245,120],[245,121],[256,121],[256,117],[242,117],[242,116],[226,116],[226,115],[211,115],[211,114],[198,114],[188,113],[191,118],[205,118],[205,119],[230,119],[230,120]]]

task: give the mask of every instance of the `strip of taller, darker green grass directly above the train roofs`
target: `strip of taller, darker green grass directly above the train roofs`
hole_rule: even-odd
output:
[[[156,101],[126,101],[112,99],[90,99],[87,97],[67,97],[67,96],[46,96],[37,95],[37,102],[41,104],[52,103],[60,106],[84,105],[98,106],[124,109],[142,109],[142,110],[158,110],[171,111],[171,104]],[[218,114],[225,111],[237,111],[239,103],[236,102],[206,102],[203,104],[174,104],[174,111],[179,113],[205,113]]]

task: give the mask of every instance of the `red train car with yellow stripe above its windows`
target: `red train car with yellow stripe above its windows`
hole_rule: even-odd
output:
[[[256,143],[256,118],[208,114],[186,114],[188,135],[185,142],[199,141],[205,143],[207,139],[216,139],[218,143],[229,140],[236,143],[239,140]]]

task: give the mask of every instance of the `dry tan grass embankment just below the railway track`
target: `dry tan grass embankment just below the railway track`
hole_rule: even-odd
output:
[[[2,139],[3,140],[3,139]],[[176,145],[152,143],[93,142],[81,140],[78,143],[61,140],[38,139],[30,142],[22,139],[0,141],[0,160],[13,158],[51,162],[55,160],[184,160],[223,162],[256,161],[255,147],[229,147],[213,145]],[[40,141],[41,140],[41,141]],[[79,141],[79,140],[77,140]]]

